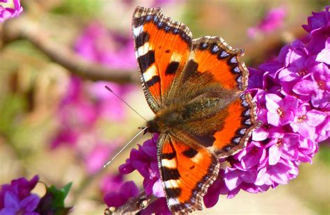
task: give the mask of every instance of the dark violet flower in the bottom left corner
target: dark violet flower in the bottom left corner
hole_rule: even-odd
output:
[[[38,180],[36,175],[30,181],[20,177],[10,184],[3,184],[0,191],[0,214],[38,214],[33,211],[37,208],[40,198],[31,193]]]

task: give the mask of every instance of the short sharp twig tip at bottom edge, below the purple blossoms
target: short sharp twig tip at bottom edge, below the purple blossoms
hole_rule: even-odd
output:
[[[104,210],[104,215],[109,214],[136,214],[140,212],[142,209],[145,209],[152,202],[157,200],[157,197],[151,195],[146,196],[146,193],[142,191],[139,196],[136,198],[130,198],[124,205],[115,208],[115,207],[107,207]]]

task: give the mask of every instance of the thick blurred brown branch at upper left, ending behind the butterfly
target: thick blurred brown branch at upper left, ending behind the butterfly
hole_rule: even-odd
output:
[[[109,67],[85,61],[72,51],[72,49],[52,40],[40,25],[22,15],[16,19],[8,20],[2,29],[3,41],[17,39],[29,40],[33,45],[45,53],[52,61],[62,65],[70,72],[85,79],[93,81],[113,81],[116,83],[140,83],[137,72],[124,70],[111,70]]]

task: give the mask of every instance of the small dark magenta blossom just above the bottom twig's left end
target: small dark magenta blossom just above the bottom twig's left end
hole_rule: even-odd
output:
[[[104,202],[107,203],[109,207],[120,207],[131,197],[139,196],[139,189],[134,184],[134,182],[125,182],[118,192],[107,193],[104,196]]]

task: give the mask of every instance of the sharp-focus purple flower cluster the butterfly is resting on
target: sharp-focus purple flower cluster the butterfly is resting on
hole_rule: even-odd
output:
[[[305,42],[285,45],[275,61],[250,68],[249,92],[262,127],[253,132],[244,150],[228,157],[230,166],[220,170],[203,198],[206,207],[215,205],[219,195],[233,198],[241,189],[258,193],[287,184],[297,177],[301,163],[312,161],[318,143],[329,138],[329,8],[308,17]],[[155,210],[164,204],[156,140],[157,136],[132,150],[119,168],[122,174],[139,171],[146,194],[159,197],[159,207],[152,204]],[[167,213],[167,207],[162,212]]]

